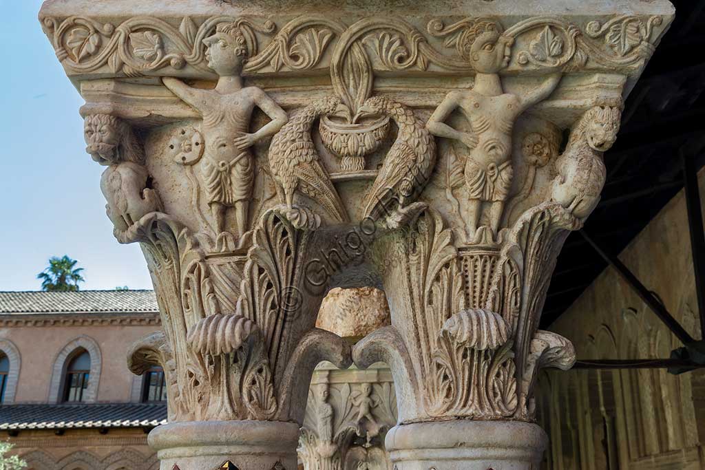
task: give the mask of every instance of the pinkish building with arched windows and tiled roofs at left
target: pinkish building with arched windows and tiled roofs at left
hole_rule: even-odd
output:
[[[150,290],[0,292],[0,432],[27,470],[154,470],[164,374],[125,366],[159,328]]]

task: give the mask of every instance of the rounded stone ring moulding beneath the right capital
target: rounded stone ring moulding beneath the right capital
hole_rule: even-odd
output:
[[[395,426],[385,445],[397,470],[537,470],[548,436],[521,421],[436,421]]]

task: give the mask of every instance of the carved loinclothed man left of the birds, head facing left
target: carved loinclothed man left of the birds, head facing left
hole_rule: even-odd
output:
[[[203,117],[206,149],[201,160],[207,201],[221,238],[226,232],[226,210],[235,208],[235,235],[247,230],[248,199],[255,168],[249,148],[274,135],[286,124],[286,112],[262,89],[244,87],[241,73],[247,61],[247,42],[235,23],[219,23],[214,35],[203,40],[208,66],[219,75],[214,89],[197,89],[176,78],[164,77],[171,89]],[[255,106],[271,121],[250,133]]]

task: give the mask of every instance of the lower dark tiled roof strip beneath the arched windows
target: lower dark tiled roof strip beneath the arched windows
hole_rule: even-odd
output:
[[[166,424],[166,403],[8,404],[0,430],[142,428]]]

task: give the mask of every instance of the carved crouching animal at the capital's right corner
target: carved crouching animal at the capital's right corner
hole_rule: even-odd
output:
[[[595,106],[573,125],[568,145],[556,161],[558,176],[553,180],[551,199],[586,218],[600,200],[607,175],[604,151],[617,139],[621,111],[617,107]]]

